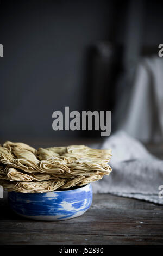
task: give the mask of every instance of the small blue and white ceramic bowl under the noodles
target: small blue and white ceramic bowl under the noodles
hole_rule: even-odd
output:
[[[92,203],[92,185],[46,193],[8,192],[12,210],[26,218],[43,221],[67,220],[84,214]]]

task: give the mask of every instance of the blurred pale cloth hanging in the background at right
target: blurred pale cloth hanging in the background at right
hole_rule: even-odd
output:
[[[114,115],[118,129],[121,127],[130,136],[143,142],[158,142],[163,138],[162,70],[163,58],[142,58],[133,86],[123,89]]]

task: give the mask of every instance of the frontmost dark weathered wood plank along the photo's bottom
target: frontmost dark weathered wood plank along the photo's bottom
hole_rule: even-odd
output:
[[[0,233],[3,245],[162,245],[162,236]]]

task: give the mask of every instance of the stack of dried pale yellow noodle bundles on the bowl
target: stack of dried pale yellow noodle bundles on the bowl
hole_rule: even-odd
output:
[[[43,193],[83,186],[109,175],[109,149],[84,145],[39,148],[7,141],[0,145],[0,185],[7,191]]]

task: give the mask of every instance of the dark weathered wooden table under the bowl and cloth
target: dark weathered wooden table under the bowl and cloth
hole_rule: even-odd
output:
[[[149,145],[161,156],[162,147]],[[0,199],[3,245],[162,245],[163,205],[98,194],[91,208],[72,220],[31,221],[14,214]]]

